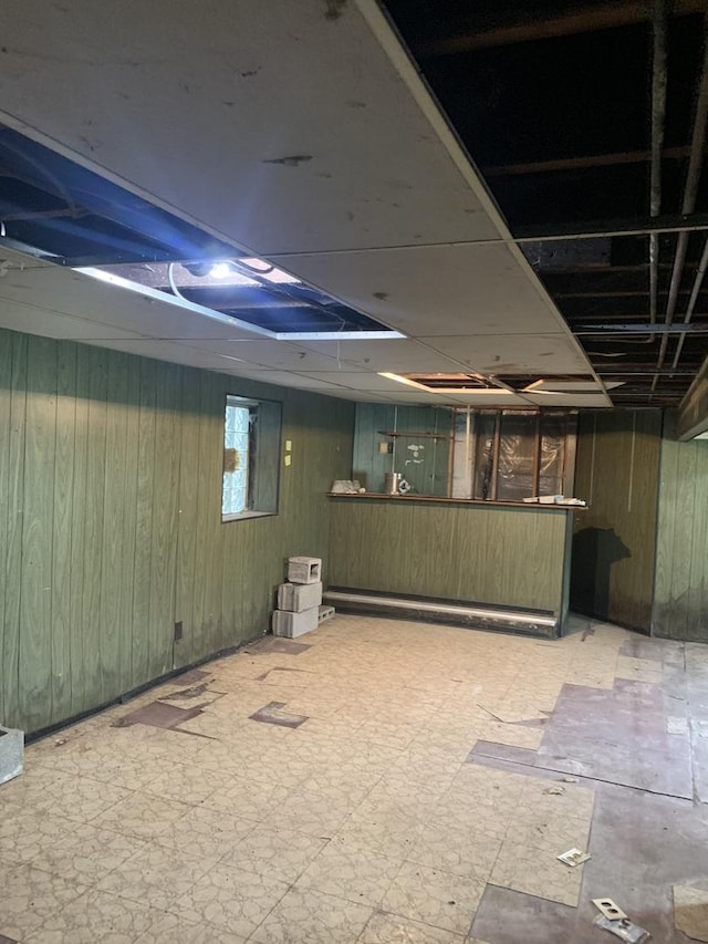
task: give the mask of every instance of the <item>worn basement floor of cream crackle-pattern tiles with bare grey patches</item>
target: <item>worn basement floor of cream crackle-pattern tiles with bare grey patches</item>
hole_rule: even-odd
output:
[[[0,944],[610,944],[601,896],[708,941],[708,646],[337,616],[0,787]]]

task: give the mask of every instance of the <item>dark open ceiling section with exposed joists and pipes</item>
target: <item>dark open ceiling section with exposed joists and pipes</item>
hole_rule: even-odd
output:
[[[512,236],[618,405],[708,349],[706,0],[386,0]]]

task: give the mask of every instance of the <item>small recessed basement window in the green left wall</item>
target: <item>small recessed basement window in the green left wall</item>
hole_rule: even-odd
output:
[[[278,514],[281,422],[275,401],[227,396],[222,521]]]

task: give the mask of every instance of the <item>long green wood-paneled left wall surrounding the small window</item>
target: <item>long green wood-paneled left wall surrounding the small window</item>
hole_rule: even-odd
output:
[[[278,516],[221,522],[227,393],[283,402]],[[352,434],[343,401],[0,330],[0,722],[38,730],[262,634],[288,556],[326,573]]]

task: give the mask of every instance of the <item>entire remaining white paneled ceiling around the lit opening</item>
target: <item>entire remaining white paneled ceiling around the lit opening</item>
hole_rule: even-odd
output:
[[[0,325],[358,400],[592,373],[375,0],[9,0],[3,49],[0,121],[408,338],[275,342],[2,252]]]

